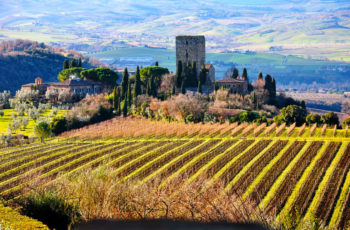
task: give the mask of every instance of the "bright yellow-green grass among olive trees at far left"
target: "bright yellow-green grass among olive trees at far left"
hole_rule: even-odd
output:
[[[2,133],[7,134],[8,125],[9,125],[9,122],[11,121],[11,114],[16,112],[14,111],[14,109],[4,109],[2,111],[4,112],[4,116],[0,117],[0,134]],[[47,118],[49,117],[50,113],[51,113],[51,110],[47,110],[45,113],[40,114],[40,118]],[[64,113],[65,111],[60,110],[57,115],[63,115]],[[25,117],[27,117],[27,115]],[[33,119],[29,119],[28,126],[24,130],[19,129],[13,134],[23,134],[26,136],[33,136],[34,126],[35,126],[35,121]]]

